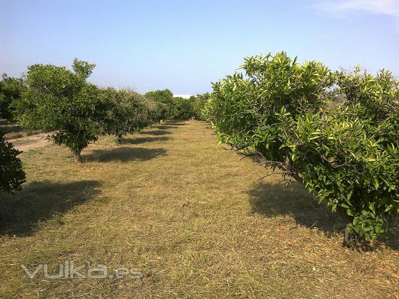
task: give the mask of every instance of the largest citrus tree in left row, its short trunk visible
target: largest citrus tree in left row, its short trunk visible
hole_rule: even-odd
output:
[[[22,97],[14,104],[18,125],[27,130],[55,131],[48,136],[68,147],[81,162],[81,151],[102,133],[104,103],[98,88],[86,81],[94,64],[75,59],[73,71],[52,64],[31,65],[22,76]]]

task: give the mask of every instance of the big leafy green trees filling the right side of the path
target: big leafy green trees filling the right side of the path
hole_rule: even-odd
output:
[[[327,201],[345,220],[345,244],[383,236],[399,213],[399,81],[285,52],[240,68],[212,85],[206,103],[218,143],[261,156]]]

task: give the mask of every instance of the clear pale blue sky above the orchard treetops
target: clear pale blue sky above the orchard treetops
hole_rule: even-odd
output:
[[[0,0],[0,72],[96,63],[90,81],[211,91],[243,57],[285,50],[399,76],[399,0]]]

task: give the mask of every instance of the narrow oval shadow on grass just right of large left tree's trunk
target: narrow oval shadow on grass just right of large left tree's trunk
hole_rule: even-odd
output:
[[[151,160],[160,155],[166,155],[165,149],[147,149],[147,148],[115,148],[115,149],[95,149],[93,153],[83,156],[87,161],[122,161],[132,160]]]

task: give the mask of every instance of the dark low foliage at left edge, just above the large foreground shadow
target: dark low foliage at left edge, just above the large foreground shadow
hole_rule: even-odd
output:
[[[3,136],[0,130],[0,193],[13,193],[14,190],[21,189],[21,184],[25,182],[25,172],[21,160],[17,157],[21,151],[14,149]]]

